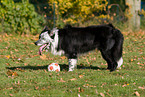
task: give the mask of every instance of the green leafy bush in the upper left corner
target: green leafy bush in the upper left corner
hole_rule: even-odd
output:
[[[20,3],[1,0],[0,10],[0,32],[35,34],[45,22],[28,0],[22,0]]]

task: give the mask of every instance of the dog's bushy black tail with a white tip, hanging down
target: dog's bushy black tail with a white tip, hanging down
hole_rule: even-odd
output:
[[[120,67],[123,63],[122,51],[123,51],[124,37],[123,34],[117,29],[114,29],[114,39],[115,39],[115,44],[112,48],[113,57],[115,61],[118,63],[118,67]]]

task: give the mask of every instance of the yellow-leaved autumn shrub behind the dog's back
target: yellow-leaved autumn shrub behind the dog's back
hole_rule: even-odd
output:
[[[107,15],[102,14],[106,10],[107,0],[50,0],[49,3],[56,5],[58,26],[66,23],[81,25],[94,15],[96,19],[107,18]]]

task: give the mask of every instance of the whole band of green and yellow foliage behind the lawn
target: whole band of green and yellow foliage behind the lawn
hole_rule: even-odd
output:
[[[0,33],[37,34],[44,25],[52,28],[64,27],[65,24],[89,26],[107,22],[119,29],[130,30],[127,22],[132,16],[130,6],[125,5],[125,0],[107,1],[0,0]],[[112,6],[113,3],[116,5]],[[140,12],[142,25],[145,25],[144,13],[144,10]]]

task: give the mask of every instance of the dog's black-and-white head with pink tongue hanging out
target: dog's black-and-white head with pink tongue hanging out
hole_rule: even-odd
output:
[[[54,28],[55,29],[55,28]],[[47,26],[44,27],[41,34],[39,35],[39,40],[35,42],[35,45],[41,46],[39,48],[39,54],[41,55],[43,49],[49,49],[50,44],[54,40],[55,30],[49,30]]]

